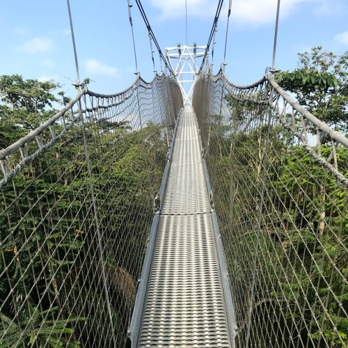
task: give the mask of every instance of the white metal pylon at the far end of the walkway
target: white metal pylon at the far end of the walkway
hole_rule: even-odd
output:
[[[166,48],[166,60],[175,74],[184,96],[184,105],[191,106],[193,86],[199,71],[197,61],[204,56],[207,46],[181,46]],[[177,60],[175,62],[174,60]]]

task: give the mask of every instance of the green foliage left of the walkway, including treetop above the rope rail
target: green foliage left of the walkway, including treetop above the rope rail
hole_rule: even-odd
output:
[[[56,85],[14,75],[0,86],[5,148],[49,116]],[[0,191],[0,347],[105,347],[110,316],[123,346],[167,147],[160,125],[84,121],[90,172],[77,124]],[[19,160],[13,153],[10,167]]]

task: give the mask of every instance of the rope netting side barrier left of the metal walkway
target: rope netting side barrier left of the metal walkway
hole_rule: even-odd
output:
[[[81,90],[0,151],[0,347],[123,347],[168,146],[175,81]]]

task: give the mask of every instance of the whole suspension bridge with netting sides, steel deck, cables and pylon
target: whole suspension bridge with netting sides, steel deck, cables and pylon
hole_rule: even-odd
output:
[[[0,347],[346,347],[347,137],[274,66],[212,74],[222,1],[166,56],[136,3],[164,72],[94,93],[74,45],[78,95],[0,150]]]

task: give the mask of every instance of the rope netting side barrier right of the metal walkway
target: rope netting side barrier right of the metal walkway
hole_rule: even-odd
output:
[[[235,306],[237,347],[345,347],[348,139],[267,75],[193,93]]]

